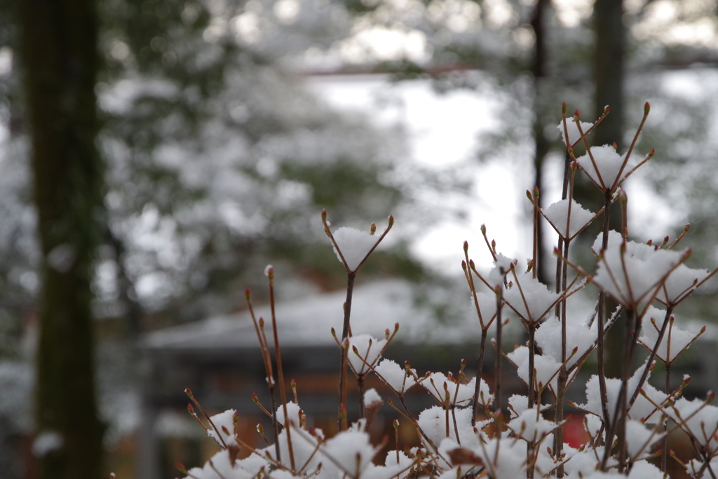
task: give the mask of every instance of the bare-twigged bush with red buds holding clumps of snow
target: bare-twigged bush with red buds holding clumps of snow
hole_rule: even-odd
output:
[[[261,355],[268,378],[271,405],[259,404],[273,419],[271,434],[259,433],[267,441],[264,449],[246,445],[236,430],[237,415],[225,411],[208,416],[199,402],[187,390],[201,415],[189,406],[190,414],[202,424],[210,437],[222,448],[202,468],[180,470],[192,479],[290,479],[316,476],[320,479],[403,479],[427,475],[438,479],[531,478],[661,478],[669,460],[666,437],[674,429],[683,431],[691,441],[695,458],[682,464],[694,478],[716,477],[718,473],[718,407],[706,400],[687,401],[678,389],[656,389],[648,383],[657,361],[666,365],[666,385],[670,384],[671,365],[701,334],[679,328],[673,316],[676,307],[684,302],[716,271],[689,269],[686,261],[691,251],[679,252],[676,245],[688,232],[688,227],[671,242],[666,236],[662,244],[628,241],[625,207],[627,195],[621,185],[638,167],[653,156],[653,150],[633,162],[636,140],[650,106],[645,104],[643,121],[638,127],[628,152],[621,155],[615,147],[589,147],[586,136],[608,113],[608,108],[595,124],[580,121],[579,113],[566,118],[558,128],[566,144],[562,199],[545,210],[538,205],[538,189],[527,192],[533,206],[534,232],[536,222],[546,220],[558,233],[554,250],[556,283],[552,289],[536,279],[536,251],[538,238],[533,239],[533,256],[526,264],[508,258],[497,251],[482,227],[483,243],[493,258],[494,269],[488,274],[477,271],[464,243],[463,270],[477,314],[477,328],[481,336],[480,356],[475,371],[462,363],[459,373],[426,373],[420,376],[409,365],[404,366],[381,355],[398,332],[386,330],[384,338],[353,335],[351,330],[352,291],[355,275],[374,248],[393,225],[376,236],[376,225],[370,233],[352,228],[332,231],[326,211],[322,212],[325,232],[334,246],[337,258],[347,272],[347,300],[341,335],[332,330],[337,347],[342,351],[339,368],[340,394],[337,404],[337,423],[340,432],[325,437],[320,429],[307,428],[307,419],[294,401],[287,401],[281,348],[276,323],[271,318],[271,330],[265,331],[264,321],[254,320],[261,347]],[[586,153],[574,156],[574,147],[582,144]],[[577,175],[587,175],[600,190],[604,207],[597,213],[579,205],[573,197]],[[610,211],[618,202],[621,231],[610,231]],[[602,232],[592,245],[598,264],[593,274],[571,260],[574,239],[592,222],[602,222]],[[551,260],[553,261],[553,260]],[[265,271],[269,279],[270,299],[274,298],[274,270]],[[567,299],[581,289],[597,287],[595,311],[582,322],[567,315]],[[607,311],[607,299],[618,304],[617,310]],[[246,299],[251,315],[250,294]],[[521,320],[528,340],[511,353],[505,354],[502,328],[506,312]],[[272,307],[274,316],[274,307]],[[610,327],[625,329],[623,371],[619,378],[606,376],[604,368],[605,332]],[[488,334],[497,358],[493,362],[495,383],[482,379]],[[274,358],[267,338],[274,338]],[[638,345],[648,351],[648,358],[633,371]],[[586,413],[584,428],[588,442],[576,449],[563,438],[566,391],[577,377],[579,368],[595,351],[597,371],[586,384],[584,404],[572,404]],[[502,382],[507,374],[503,358],[516,368],[518,378],[526,384],[526,394],[502,397]],[[274,377],[276,366],[277,378]],[[360,419],[349,424],[346,413],[348,370],[353,371],[363,398]],[[364,390],[364,379],[376,374],[388,391],[397,398],[388,400],[401,416],[416,429],[421,445],[412,449],[391,450],[380,456],[383,446],[372,445],[366,431],[383,401],[379,394]],[[404,394],[412,387],[423,387],[437,401],[424,411],[411,411],[404,402]],[[294,389],[294,384],[292,384]],[[276,389],[279,389],[277,397]],[[547,400],[548,399],[548,400]],[[279,405],[276,404],[279,401]],[[544,404],[544,401],[545,402]],[[508,407],[506,406],[508,404]],[[395,421],[395,427],[398,422]],[[271,438],[268,439],[267,436]],[[271,442],[274,444],[271,444]],[[271,445],[270,445],[271,444]],[[246,459],[237,460],[238,452],[246,448]],[[650,461],[649,461],[650,460]]]

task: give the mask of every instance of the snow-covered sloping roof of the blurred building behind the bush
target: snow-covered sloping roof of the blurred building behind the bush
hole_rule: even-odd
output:
[[[285,347],[335,344],[331,329],[341,335],[346,292],[316,294],[276,304],[279,342]],[[467,300],[467,304],[469,304]],[[269,305],[256,307],[271,335]],[[440,325],[428,308],[417,306],[411,284],[399,279],[363,284],[354,288],[351,327],[353,335],[381,338],[398,322],[396,341],[401,343],[465,343],[479,336],[477,320],[467,315],[460,324]],[[443,327],[442,327],[443,326]],[[270,343],[272,343],[270,339]],[[205,348],[257,348],[257,337],[248,311],[211,317],[190,325],[169,327],[146,335],[145,348],[154,350],[200,350]]]

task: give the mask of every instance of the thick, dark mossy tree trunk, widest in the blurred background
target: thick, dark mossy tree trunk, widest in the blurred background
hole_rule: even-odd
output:
[[[101,229],[97,19],[91,0],[24,0],[21,55],[42,248],[34,442],[38,477],[97,479],[93,256]]]

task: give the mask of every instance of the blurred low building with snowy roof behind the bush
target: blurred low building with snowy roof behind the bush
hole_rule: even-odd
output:
[[[332,327],[341,335],[345,292],[319,294],[298,301],[276,305],[284,376],[288,400],[293,399],[289,381],[297,381],[299,406],[307,414],[309,426],[320,427],[327,434],[337,429],[337,393],[340,350],[332,338]],[[467,302],[468,305],[468,302]],[[442,325],[432,319],[429,310],[417,306],[411,285],[401,280],[385,280],[355,287],[352,302],[354,335],[368,333],[383,338],[385,330],[400,329],[384,357],[400,364],[411,361],[419,374],[426,371],[454,371],[462,358],[469,365],[477,361],[479,328],[468,315],[459,324]],[[256,310],[256,317],[266,320],[266,334],[271,339],[269,307]],[[490,347],[490,346],[489,346]],[[187,413],[189,399],[185,388],[192,389],[209,414],[236,409],[244,440],[256,447],[264,441],[256,425],[264,423],[271,437],[271,423],[252,400],[256,393],[269,409],[266,373],[261,361],[256,330],[248,312],[214,317],[209,320],[153,332],[144,342],[146,371],[139,434],[138,478],[173,478],[174,463],[187,467],[200,465],[217,446]],[[488,355],[486,373],[492,370]],[[470,371],[471,366],[467,367]],[[491,381],[490,374],[485,378]],[[376,388],[383,397],[391,391],[373,374],[366,389]],[[350,373],[348,413],[358,417],[356,381]],[[396,398],[394,398],[396,399]],[[279,396],[277,399],[279,403]],[[412,411],[419,413],[433,400],[421,386],[407,396]],[[373,440],[381,442],[391,432],[393,419],[399,415],[384,405],[373,420]],[[416,441],[414,427],[401,425],[401,445]]]

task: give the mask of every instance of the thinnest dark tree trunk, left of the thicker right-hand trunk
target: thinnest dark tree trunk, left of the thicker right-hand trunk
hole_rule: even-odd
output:
[[[543,175],[541,169],[544,167],[544,159],[546,154],[549,154],[551,145],[546,140],[544,134],[544,103],[541,101],[541,88],[542,83],[546,77],[546,11],[549,9],[551,2],[549,0],[538,0],[536,7],[533,10],[533,18],[531,19],[531,27],[533,27],[533,34],[536,39],[533,44],[533,65],[531,65],[531,73],[533,73],[533,139],[535,141],[535,154],[533,157],[533,169],[535,172],[534,185],[538,187],[539,194],[543,192],[543,181],[541,180]],[[544,208],[544,195],[539,195],[538,203],[541,208]],[[543,248],[544,243],[544,221],[538,221],[538,250],[536,251],[536,278],[538,281],[547,284],[546,279],[546,248]]]

